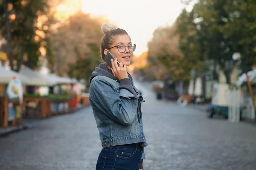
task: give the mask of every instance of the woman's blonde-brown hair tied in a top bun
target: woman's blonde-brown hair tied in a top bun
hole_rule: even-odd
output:
[[[104,50],[111,48],[111,44],[113,43],[115,36],[128,35],[128,33],[124,29],[118,28],[113,23],[105,23],[102,25],[102,34],[104,34],[104,37],[101,40],[100,51],[102,61],[104,61]]]

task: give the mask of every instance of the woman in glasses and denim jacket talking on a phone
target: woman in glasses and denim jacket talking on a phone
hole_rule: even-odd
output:
[[[96,170],[142,170],[147,146],[141,113],[144,100],[126,71],[136,45],[113,24],[105,23],[102,32],[102,60],[108,52],[115,60],[111,59],[113,68],[100,64],[90,78],[90,105],[103,147]]]

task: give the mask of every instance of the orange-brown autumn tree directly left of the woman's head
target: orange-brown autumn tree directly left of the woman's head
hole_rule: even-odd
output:
[[[49,34],[52,54],[47,54],[50,68],[58,75],[89,79],[99,65],[101,25],[106,20],[81,12]]]

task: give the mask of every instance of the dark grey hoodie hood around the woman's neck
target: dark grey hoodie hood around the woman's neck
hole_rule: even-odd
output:
[[[112,74],[111,69],[109,69],[104,64],[100,64],[99,67],[95,68],[95,70],[93,71],[92,76],[90,77],[90,82],[96,76],[105,76],[105,77],[111,78],[111,79],[116,80],[116,81],[119,82],[119,80]],[[129,79],[131,79],[131,82],[133,82],[133,79],[132,79],[132,77],[129,73],[128,73],[128,77],[129,77]]]

